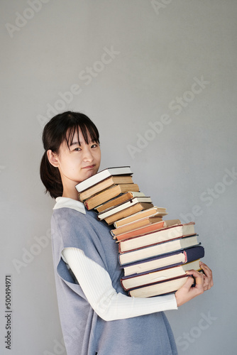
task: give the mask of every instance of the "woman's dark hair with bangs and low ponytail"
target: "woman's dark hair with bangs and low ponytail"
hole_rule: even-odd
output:
[[[68,148],[70,148],[75,133],[77,133],[79,141],[79,129],[87,144],[90,139],[99,143],[97,127],[89,117],[79,112],[67,111],[57,114],[48,121],[43,129],[42,141],[45,153],[40,163],[40,178],[45,185],[45,193],[49,192],[53,198],[62,196],[62,180],[58,168],[48,161],[47,151],[50,149],[53,153],[59,153],[63,141],[66,141]]]

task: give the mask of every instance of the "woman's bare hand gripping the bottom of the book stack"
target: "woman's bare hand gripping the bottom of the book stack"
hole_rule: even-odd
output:
[[[213,286],[211,269],[206,266],[206,264],[202,263],[202,261],[200,261],[200,267],[204,273],[199,273],[195,270],[186,271],[187,275],[192,275],[192,277],[187,278],[186,283],[175,293],[178,307],[192,300],[192,298],[202,295],[204,291],[209,290]],[[194,287],[192,287],[194,283],[193,278],[195,279]]]

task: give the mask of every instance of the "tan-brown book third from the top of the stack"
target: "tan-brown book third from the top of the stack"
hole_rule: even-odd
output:
[[[87,209],[93,209],[94,207],[99,206],[99,204],[128,191],[139,191],[139,187],[137,184],[113,185],[84,201],[84,205]]]

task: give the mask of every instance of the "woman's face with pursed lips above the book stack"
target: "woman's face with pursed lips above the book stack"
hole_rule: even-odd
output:
[[[79,145],[80,142],[80,145]],[[75,185],[99,170],[101,151],[99,144],[89,139],[89,144],[84,141],[82,131],[79,130],[79,142],[75,133],[70,149],[64,141],[57,155],[58,169],[62,178],[62,185],[70,184],[75,190]]]

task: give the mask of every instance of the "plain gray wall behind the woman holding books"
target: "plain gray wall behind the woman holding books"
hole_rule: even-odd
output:
[[[101,168],[131,165],[169,219],[196,223],[214,288],[167,312],[180,355],[234,354],[236,1],[0,6],[1,351],[65,354],[50,246],[54,202],[38,170],[44,124],[72,109],[101,132]]]

